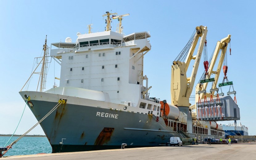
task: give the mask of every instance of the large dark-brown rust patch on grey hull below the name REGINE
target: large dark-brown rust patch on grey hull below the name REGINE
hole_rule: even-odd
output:
[[[110,140],[113,131],[114,131],[114,128],[103,128],[103,130],[97,137],[94,145],[103,145],[107,143]]]

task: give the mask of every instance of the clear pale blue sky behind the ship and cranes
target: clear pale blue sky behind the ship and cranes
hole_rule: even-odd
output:
[[[171,64],[188,42],[196,26],[207,26],[208,57],[222,38],[231,34],[232,55],[228,55],[228,79],[237,91],[242,125],[249,128],[249,135],[256,135],[255,127],[255,1],[3,1],[0,0],[0,134],[12,134],[19,122],[25,102],[19,91],[29,78],[35,57],[40,57],[47,34],[48,45],[65,41],[76,33],[104,31],[105,11],[124,17],[124,33],[149,31],[151,51],[144,58],[144,74],[149,78],[151,97],[171,102]],[[113,20],[115,30],[118,22]],[[113,30],[112,28],[112,30]],[[201,59],[201,64],[203,58]],[[47,76],[50,89],[59,67],[52,63]],[[197,80],[203,73],[201,65]],[[190,72],[189,72],[190,74]],[[188,75],[188,74],[187,74]],[[219,78],[221,81],[223,74]],[[37,82],[33,77],[32,81]],[[29,90],[35,90],[31,81]],[[196,85],[196,84],[195,84]],[[208,88],[209,90],[209,88]],[[228,88],[223,88],[224,93]],[[192,92],[195,95],[195,91]],[[194,103],[194,102],[191,102]],[[23,134],[36,123],[26,107],[16,134]],[[229,121],[233,123],[232,121]],[[228,124],[229,122],[218,122]],[[44,134],[40,126],[29,134]]]

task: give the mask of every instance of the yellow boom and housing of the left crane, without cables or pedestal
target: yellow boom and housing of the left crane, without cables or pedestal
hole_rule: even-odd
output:
[[[189,97],[194,86],[206,34],[206,26],[196,27],[196,34],[188,51],[185,62],[174,61],[173,65],[171,66],[171,101],[175,106],[190,106]],[[193,55],[199,37],[201,37],[200,44],[198,46],[196,55]],[[188,66],[192,59],[194,59],[195,62],[191,76],[187,78]]]

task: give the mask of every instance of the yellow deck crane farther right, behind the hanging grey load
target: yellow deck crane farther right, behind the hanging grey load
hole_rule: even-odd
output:
[[[204,95],[206,98],[210,98],[211,94],[214,95],[214,92],[218,91],[216,84],[217,84],[219,76],[220,76],[222,64],[223,64],[224,57],[225,57],[225,54],[227,51],[227,46],[228,46],[228,43],[230,42],[230,37],[231,37],[231,35],[229,34],[227,37],[225,37],[225,38],[221,39],[221,41],[217,42],[217,45],[216,45],[214,53],[213,53],[213,57],[210,62],[208,73],[206,73],[206,71],[204,71],[204,73],[202,75],[202,77],[203,77],[205,74],[208,74],[209,79],[201,80],[200,83],[198,83],[196,86],[196,95],[195,95],[196,102],[198,102],[199,98],[202,99]],[[216,69],[216,71],[213,71],[213,67],[215,66],[215,63],[217,61],[217,57],[219,56],[220,51],[221,51],[221,55],[220,55],[217,69]],[[215,74],[214,78],[210,78],[212,74]],[[209,82],[213,82],[213,83],[212,83],[212,88],[210,89],[210,93],[207,93],[206,88],[207,88],[207,85]],[[190,107],[190,109],[191,110],[196,109],[196,105],[195,104],[192,105]]]

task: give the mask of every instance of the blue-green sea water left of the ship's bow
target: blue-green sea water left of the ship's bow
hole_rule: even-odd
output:
[[[19,137],[12,137],[8,145],[17,138]],[[0,147],[3,147],[9,139],[9,136],[0,136]],[[4,156],[39,153],[52,153],[52,147],[46,137],[23,137]]]

